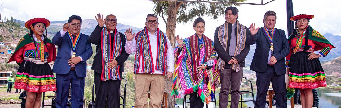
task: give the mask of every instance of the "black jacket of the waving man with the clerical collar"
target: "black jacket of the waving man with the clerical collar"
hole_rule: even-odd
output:
[[[101,49],[101,32],[102,29],[99,25],[96,26],[95,30],[92,31],[89,42],[92,44],[97,45],[96,46],[96,55],[93,57],[93,63],[91,69],[97,73],[102,73],[102,49]],[[125,52],[124,45],[125,45],[125,35],[118,32],[121,36],[121,43],[122,43],[122,50],[121,55],[119,55],[115,60],[118,62],[118,65],[120,66],[119,72],[122,73],[124,71],[124,62],[127,61],[129,54]],[[110,34],[112,37],[112,40],[115,38],[114,33]],[[113,41],[112,41],[112,47],[113,47]]]

